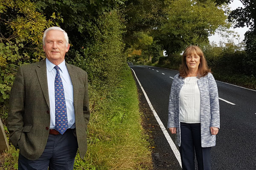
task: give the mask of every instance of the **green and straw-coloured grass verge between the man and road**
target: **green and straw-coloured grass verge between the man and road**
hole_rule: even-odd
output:
[[[150,170],[151,152],[142,127],[137,87],[126,66],[117,88],[98,92],[89,87],[91,117],[88,150],[76,156],[74,170]],[[86,141],[85,141],[86,142]],[[12,146],[0,155],[0,169],[17,169],[18,151]]]

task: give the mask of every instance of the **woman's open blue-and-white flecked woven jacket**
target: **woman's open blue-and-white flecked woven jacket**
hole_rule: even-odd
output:
[[[176,127],[176,143],[180,146],[180,90],[184,84],[184,78],[177,74],[172,82],[169,99],[168,125]],[[198,87],[201,95],[201,146],[215,146],[216,135],[212,135],[210,127],[220,128],[220,114],[218,89],[211,73],[198,79]]]

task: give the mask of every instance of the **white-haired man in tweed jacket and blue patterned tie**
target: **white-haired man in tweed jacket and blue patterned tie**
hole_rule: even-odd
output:
[[[87,73],[65,62],[70,45],[63,29],[45,30],[43,48],[47,59],[17,71],[9,139],[20,149],[19,170],[73,170],[78,147],[81,159],[87,150]]]

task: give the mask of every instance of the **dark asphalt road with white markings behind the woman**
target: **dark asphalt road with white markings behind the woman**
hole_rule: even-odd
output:
[[[167,128],[170,88],[178,72],[145,65],[133,65],[130,68],[136,73],[157,115]],[[256,170],[256,91],[224,82],[216,83],[220,98],[221,128],[216,146],[212,147],[212,170]],[[164,152],[162,159],[175,164],[158,169],[181,169],[163,132],[158,131],[156,135],[159,139],[155,140],[155,144]],[[175,136],[169,135],[175,141]]]

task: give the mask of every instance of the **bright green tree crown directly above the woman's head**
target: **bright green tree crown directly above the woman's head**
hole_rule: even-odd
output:
[[[168,19],[155,30],[154,39],[163,44],[168,55],[180,53],[191,44],[206,45],[218,27],[229,27],[224,11],[212,0],[166,0],[165,3]]]

